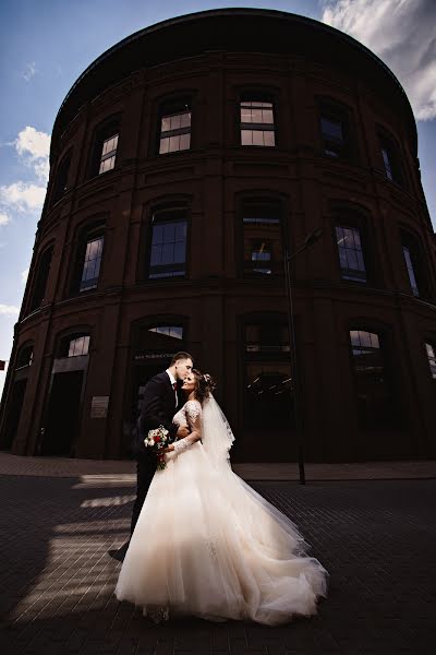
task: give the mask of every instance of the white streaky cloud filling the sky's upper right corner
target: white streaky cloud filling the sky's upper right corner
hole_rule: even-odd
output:
[[[436,117],[436,2],[324,0],[322,21],[373,50],[397,75],[420,120]]]

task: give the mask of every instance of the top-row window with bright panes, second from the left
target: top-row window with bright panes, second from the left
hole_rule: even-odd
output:
[[[159,155],[191,148],[191,102],[166,103],[159,114]]]

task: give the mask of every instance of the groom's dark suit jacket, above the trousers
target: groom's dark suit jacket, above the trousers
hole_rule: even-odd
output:
[[[174,390],[166,371],[148,380],[144,390],[144,402],[141,416],[137,419],[136,455],[148,456],[149,451],[144,445],[144,438],[149,430],[164,426],[170,433],[170,441],[174,441],[178,426],[172,424],[172,417],[180,406],[175,406]]]

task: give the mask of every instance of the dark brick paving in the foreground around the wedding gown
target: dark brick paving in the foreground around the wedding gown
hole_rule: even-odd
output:
[[[38,464],[39,465],[39,464]],[[95,471],[95,469],[94,469]],[[113,596],[129,472],[1,475],[0,653],[429,655],[436,651],[436,479],[254,481],[330,573],[311,619],[280,628],[154,626]]]

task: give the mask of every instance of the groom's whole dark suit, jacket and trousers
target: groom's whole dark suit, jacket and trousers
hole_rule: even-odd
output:
[[[144,403],[137,419],[136,443],[134,444],[137,456],[137,489],[132,512],[131,534],[135,529],[148,487],[156,472],[156,455],[145,448],[144,439],[149,430],[159,426],[164,426],[169,431],[171,441],[175,439],[178,426],[172,424],[172,417],[178,409],[175,393],[166,371],[152,378],[144,390]]]

